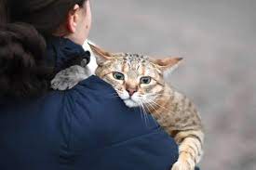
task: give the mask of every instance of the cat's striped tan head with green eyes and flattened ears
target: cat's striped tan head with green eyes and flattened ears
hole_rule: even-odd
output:
[[[113,85],[128,107],[154,104],[166,86],[165,78],[182,58],[151,59],[128,53],[110,53],[92,46],[99,65],[96,75]]]

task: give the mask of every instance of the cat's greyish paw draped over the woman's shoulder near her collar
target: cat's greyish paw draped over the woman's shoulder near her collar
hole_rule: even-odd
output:
[[[91,73],[89,73],[86,68],[75,65],[58,72],[51,81],[51,88],[55,90],[71,89],[74,85],[87,79],[90,75]]]

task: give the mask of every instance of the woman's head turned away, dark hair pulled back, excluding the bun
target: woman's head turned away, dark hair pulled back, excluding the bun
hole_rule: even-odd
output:
[[[88,0],[8,0],[7,8],[10,22],[30,23],[45,36],[66,36],[80,45],[88,37]]]

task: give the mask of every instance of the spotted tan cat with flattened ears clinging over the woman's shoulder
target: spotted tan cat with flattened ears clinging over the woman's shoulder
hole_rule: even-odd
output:
[[[175,91],[165,79],[181,58],[151,59],[144,55],[110,53],[90,45],[98,68],[95,74],[113,85],[128,107],[151,113],[179,145],[179,158],[171,170],[193,170],[203,154],[204,132],[195,105]],[[59,72],[52,80],[54,89],[72,88],[89,75],[81,66]]]

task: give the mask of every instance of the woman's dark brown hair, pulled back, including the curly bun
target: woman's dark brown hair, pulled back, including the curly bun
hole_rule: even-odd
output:
[[[57,31],[75,4],[86,0],[0,0],[0,96],[47,91],[53,69],[44,62],[44,37]]]

